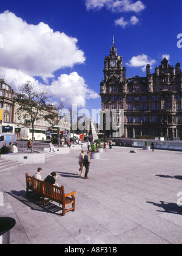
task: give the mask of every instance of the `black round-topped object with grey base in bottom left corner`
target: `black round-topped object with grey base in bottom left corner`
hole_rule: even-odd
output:
[[[13,218],[0,218],[0,244],[10,243],[10,230],[15,226],[16,221]]]

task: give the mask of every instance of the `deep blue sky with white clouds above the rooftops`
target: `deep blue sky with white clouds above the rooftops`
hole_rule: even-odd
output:
[[[18,90],[49,85],[65,107],[101,108],[99,83],[112,38],[126,76],[181,62],[181,0],[6,0],[0,6],[0,78]],[[182,43],[181,43],[182,44]]]

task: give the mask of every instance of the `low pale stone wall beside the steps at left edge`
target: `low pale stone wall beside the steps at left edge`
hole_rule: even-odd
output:
[[[23,164],[44,164],[45,154],[44,153],[23,153],[23,152],[1,154],[1,159],[21,162]]]

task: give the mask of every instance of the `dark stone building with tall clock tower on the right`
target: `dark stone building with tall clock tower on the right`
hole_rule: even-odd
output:
[[[104,58],[104,78],[100,83],[101,108],[113,109],[120,122],[124,109],[122,137],[182,137],[182,75],[180,63],[170,66],[166,58],[146,77],[126,77],[123,57],[113,42],[110,55]],[[104,121],[104,123],[106,120]],[[113,130],[104,126],[104,136],[113,137]]]

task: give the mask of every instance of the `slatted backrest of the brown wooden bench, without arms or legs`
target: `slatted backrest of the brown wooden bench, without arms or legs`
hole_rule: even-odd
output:
[[[40,179],[33,178],[26,173],[27,189],[33,190],[44,197],[64,201],[64,186],[58,187]]]

